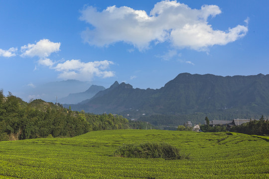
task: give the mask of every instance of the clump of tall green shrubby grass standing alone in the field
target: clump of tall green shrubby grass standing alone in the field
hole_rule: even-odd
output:
[[[189,159],[180,150],[164,142],[147,142],[142,144],[125,144],[119,146],[114,156],[126,158],[163,158],[166,160]]]

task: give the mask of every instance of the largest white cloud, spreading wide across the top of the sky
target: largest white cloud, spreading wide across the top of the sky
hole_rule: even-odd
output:
[[[149,15],[144,10],[127,6],[109,6],[101,12],[93,6],[86,6],[81,11],[80,20],[94,28],[83,31],[82,38],[95,46],[122,41],[144,50],[149,48],[151,42],[168,41],[176,48],[206,51],[210,46],[233,42],[248,32],[248,27],[244,25],[226,31],[213,30],[207,19],[220,13],[217,5],[192,9],[176,0],[156,3]]]

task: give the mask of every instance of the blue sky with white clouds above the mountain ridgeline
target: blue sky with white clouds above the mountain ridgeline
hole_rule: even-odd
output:
[[[0,0],[0,89],[268,74],[268,0]]]

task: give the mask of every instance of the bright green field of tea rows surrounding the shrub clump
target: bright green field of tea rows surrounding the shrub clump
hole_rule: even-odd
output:
[[[127,143],[170,143],[188,160],[113,157]],[[233,133],[110,130],[0,142],[0,178],[269,179],[269,139]]]

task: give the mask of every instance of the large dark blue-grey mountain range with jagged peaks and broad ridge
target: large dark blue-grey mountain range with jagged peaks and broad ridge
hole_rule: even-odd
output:
[[[161,89],[133,89],[115,82],[109,89],[71,106],[93,113],[193,114],[197,112],[269,113],[269,75],[179,74]]]

